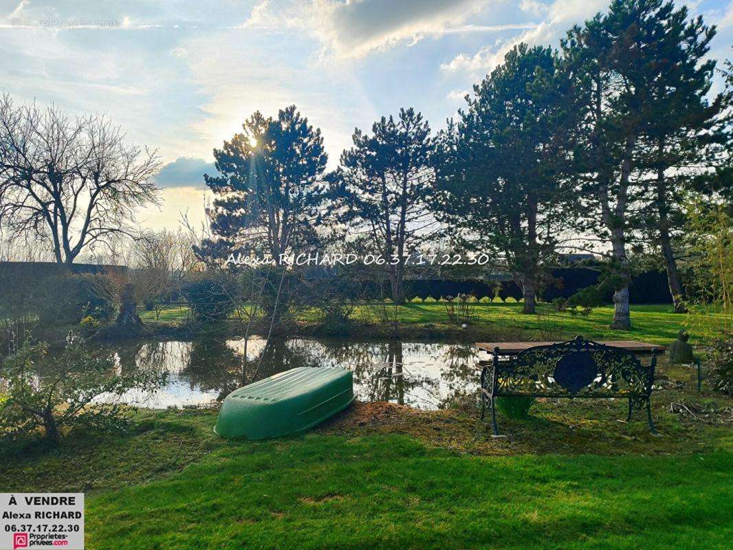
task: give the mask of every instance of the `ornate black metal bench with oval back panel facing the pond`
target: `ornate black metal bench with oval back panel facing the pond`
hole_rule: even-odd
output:
[[[649,430],[657,433],[651,408],[656,350],[649,366],[644,366],[631,351],[578,336],[528,348],[506,359],[496,347],[492,359],[481,372],[481,419],[488,406],[494,436],[499,436],[496,397],[622,397],[629,400],[627,422],[635,407],[645,407]]]

